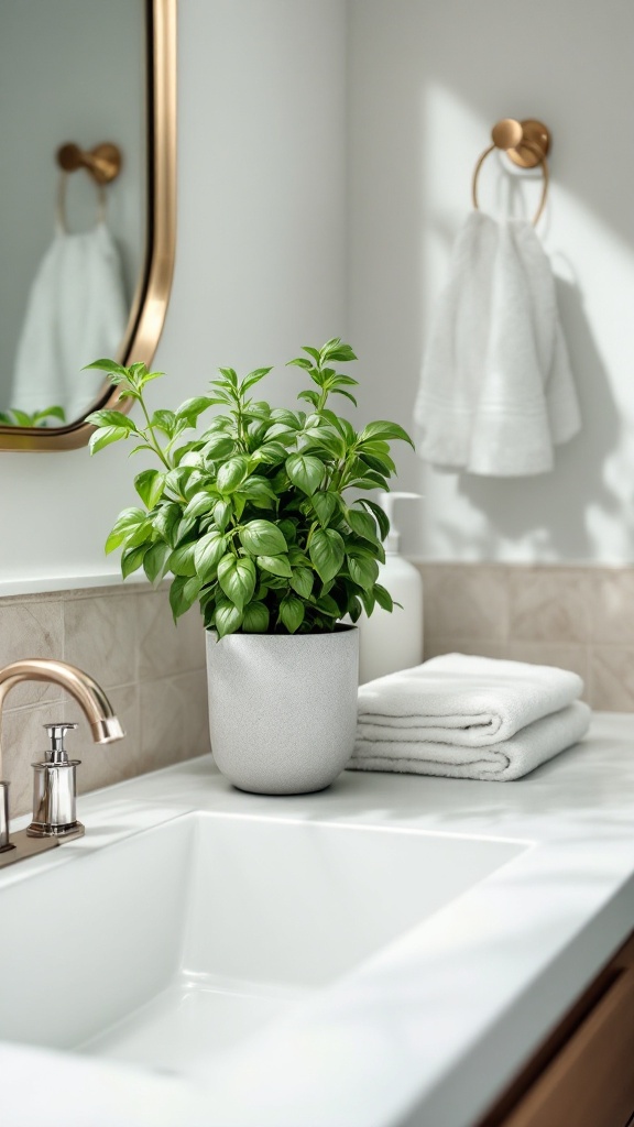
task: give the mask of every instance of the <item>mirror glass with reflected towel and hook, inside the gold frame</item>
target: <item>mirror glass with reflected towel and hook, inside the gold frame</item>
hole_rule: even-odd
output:
[[[0,424],[83,418],[103,381],[82,366],[124,352],[146,256],[146,86],[143,0],[0,0]]]

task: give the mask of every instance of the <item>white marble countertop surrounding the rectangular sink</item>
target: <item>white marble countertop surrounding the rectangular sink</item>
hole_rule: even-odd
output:
[[[108,819],[113,808],[116,819]],[[122,1091],[142,1083],[160,1095],[164,1085],[162,1117],[113,1118],[111,1108],[104,1121],[112,1127],[470,1127],[634,929],[634,716],[597,713],[582,744],[517,782],[344,772],[318,795],[263,798],[234,790],[205,756],[79,800],[93,850],[190,810],[530,848],[305,1008],[227,1051],[210,1067],[204,1093],[41,1054],[49,1095],[64,1085],[60,1124],[86,1127],[86,1085],[107,1076]],[[116,829],[99,831],[114,822]],[[28,864],[65,863],[80,845]],[[3,885],[26,868],[0,873],[0,905]],[[34,1056],[0,1046],[6,1109]],[[24,1099],[20,1108],[3,1118],[7,1127],[32,1127],[20,1118],[28,1113]],[[90,1118],[95,1127],[100,1121]]]

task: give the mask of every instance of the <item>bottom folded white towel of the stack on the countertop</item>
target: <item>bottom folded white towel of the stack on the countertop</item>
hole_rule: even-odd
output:
[[[558,712],[535,720],[510,739],[488,746],[465,747],[432,740],[394,742],[358,739],[350,771],[403,771],[504,782],[521,779],[540,763],[571,747],[588,731],[590,709],[574,701]],[[387,733],[387,728],[385,729]]]

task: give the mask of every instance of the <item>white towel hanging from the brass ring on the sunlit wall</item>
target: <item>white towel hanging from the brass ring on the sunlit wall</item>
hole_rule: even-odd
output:
[[[463,225],[414,418],[421,458],[491,477],[551,470],[580,429],[553,273],[527,221],[474,211]]]

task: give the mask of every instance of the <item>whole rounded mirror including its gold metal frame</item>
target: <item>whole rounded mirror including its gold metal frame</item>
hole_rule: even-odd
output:
[[[81,373],[83,363],[90,363],[98,355],[112,355],[123,364],[142,361],[149,365],[165,321],[176,243],[177,0],[120,0],[105,6],[97,0],[95,26],[83,24],[87,61],[80,64],[81,44],[76,41],[70,48],[77,65],[73,63],[69,68],[64,68],[60,59],[68,39],[63,0],[44,7],[34,0],[26,0],[25,5],[0,0],[0,9],[2,6],[9,21],[2,37],[7,52],[10,50],[16,59],[19,57],[19,46],[14,38],[24,42],[29,36],[39,43],[46,42],[49,55],[54,55],[51,65],[56,68],[63,105],[60,109],[44,105],[39,115],[29,114],[27,107],[23,107],[20,128],[23,122],[24,131],[30,123],[37,143],[21,134],[16,142],[19,152],[27,158],[15,177],[15,199],[19,199],[19,207],[10,213],[6,239],[16,242],[18,216],[15,212],[18,211],[30,232],[32,243],[30,259],[25,255],[27,263],[23,273],[28,269],[32,276],[27,279],[28,285],[27,281],[23,285],[24,312],[20,307],[15,317],[19,323],[14,338],[12,330],[5,334],[10,352],[2,358],[5,384],[0,376],[0,450],[73,450],[85,445],[93,433],[93,427],[85,421],[91,410],[114,406],[126,410],[130,406],[129,400],[120,405],[116,389],[102,383],[95,373]],[[81,8],[85,20],[88,20],[89,8],[89,5]],[[43,11],[51,14],[53,10],[56,10],[56,23],[51,24],[47,35],[46,28],[41,26],[41,17]],[[23,25],[17,24],[18,11]],[[130,33],[113,24],[117,12],[123,16],[129,11],[135,20]],[[111,20],[108,26],[106,18]],[[28,27],[24,26],[25,19],[30,19]],[[72,23],[73,34],[79,34],[77,23],[77,19]],[[132,50],[140,55],[135,66]],[[44,63],[47,64],[47,57]],[[24,68],[24,59],[19,64]],[[28,69],[32,74],[38,70],[35,62]],[[76,96],[73,103],[65,86],[62,87],[69,70],[77,72],[78,82],[83,76],[83,86],[79,89],[87,91],[85,99]],[[88,73],[93,82],[86,81]],[[134,99],[123,86],[126,78],[137,83]],[[98,106],[97,94],[91,92],[94,88],[99,91]],[[54,92],[51,89],[51,101]],[[82,100],[91,103],[91,117],[81,105]],[[38,105],[42,105],[41,99]],[[118,130],[117,106],[123,107]],[[63,136],[60,131],[67,121],[69,135]],[[73,128],[81,135],[71,135]],[[93,131],[96,135],[90,135]],[[98,135],[99,131],[104,135]],[[14,139],[17,130],[12,124],[9,132]],[[126,142],[121,147],[118,133]],[[11,160],[10,139],[5,149],[6,161]],[[118,156],[113,154],[113,149]],[[104,153],[108,160],[121,162],[113,175],[109,171],[104,175]],[[38,179],[37,171],[42,167],[44,171]],[[45,181],[44,186],[39,180]],[[41,224],[36,249],[34,228],[37,222],[32,216],[37,201],[35,183],[39,196],[45,199],[46,215],[42,224],[51,221],[52,236],[52,240],[49,239],[47,228]],[[78,216],[80,229],[76,230],[72,225]],[[113,258],[116,259],[115,285],[121,286],[116,293],[106,289],[112,285]],[[14,270],[14,284],[8,279],[3,291],[0,285],[0,309],[2,292],[9,304],[16,298],[18,274]],[[67,291],[74,290],[77,307],[70,307],[64,285]],[[95,347],[81,332],[83,326],[93,322],[96,325]],[[77,332],[72,345],[78,363],[69,365],[64,357],[72,354],[72,348],[64,352],[59,345],[62,331],[70,334],[73,326]],[[107,331],[113,334],[111,338]],[[108,339],[113,340],[109,349]],[[37,361],[47,361],[52,354],[51,371],[46,367],[44,373],[44,363],[38,365]],[[97,383],[91,384],[90,380]],[[74,382],[69,394],[65,390],[69,381],[77,381],[83,400],[74,396]],[[62,394],[67,394],[65,401]],[[41,410],[34,410],[34,406]]]

